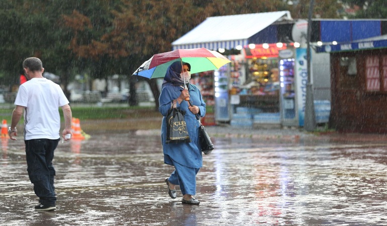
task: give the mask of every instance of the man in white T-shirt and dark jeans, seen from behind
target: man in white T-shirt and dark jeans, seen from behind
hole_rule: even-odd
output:
[[[71,134],[71,108],[58,84],[43,77],[42,61],[30,57],[23,61],[25,75],[29,79],[19,87],[12,112],[8,133],[16,140],[18,125],[24,110],[24,142],[26,144],[27,171],[35,194],[39,197],[36,210],[56,209],[54,187],[55,169],[52,165],[54,150],[60,140],[59,107],[63,110],[64,130],[62,137]]]

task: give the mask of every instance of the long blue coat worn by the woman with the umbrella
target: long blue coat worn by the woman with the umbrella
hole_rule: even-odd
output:
[[[185,111],[184,120],[187,125],[188,135],[191,140],[190,143],[178,143],[178,144],[165,144],[166,140],[166,116],[168,110],[172,107],[172,101],[179,97],[181,86],[166,85],[162,88],[159,97],[159,111],[163,115],[161,124],[161,142],[164,152],[164,163],[173,165],[173,159],[175,162],[190,168],[201,168],[203,166],[202,152],[199,143],[199,126],[200,123],[196,119],[196,116],[188,109],[188,102],[183,100],[180,104],[177,102],[176,107]],[[202,94],[197,86],[188,84],[188,91],[190,100],[193,105],[200,108],[200,117],[206,115],[206,103],[202,98]]]

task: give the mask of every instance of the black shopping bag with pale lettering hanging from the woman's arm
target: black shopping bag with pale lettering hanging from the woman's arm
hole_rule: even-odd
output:
[[[166,144],[189,143],[187,125],[184,120],[185,111],[172,107],[167,115]]]

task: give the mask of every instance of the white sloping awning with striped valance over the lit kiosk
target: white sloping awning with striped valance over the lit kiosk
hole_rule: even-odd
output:
[[[235,49],[276,21],[292,20],[289,11],[209,17],[176,41],[172,49]]]

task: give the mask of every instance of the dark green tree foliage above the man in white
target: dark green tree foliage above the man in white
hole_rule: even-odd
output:
[[[120,3],[119,0],[2,1],[0,15],[3,20],[0,25],[3,32],[0,34],[0,41],[3,45],[0,49],[4,54],[1,56],[1,65],[3,73],[8,75],[4,77],[4,82],[15,80],[14,74],[20,71],[21,62],[30,56],[41,58],[45,71],[60,75],[64,87],[74,71],[91,68],[91,71],[104,74],[101,69],[116,68],[112,66],[116,65],[115,62],[98,64],[92,61],[93,58],[79,57],[69,48],[74,34],[71,27],[63,23],[63,15],[71,15],[74,10],[88,15],[96,29],[86,29],[81,34],[82,40],[87,42],[106,32],[106,28],[111,26],[109,23],[113,16],[109,11]],[[100,27],[103,29],[99,29]]]

